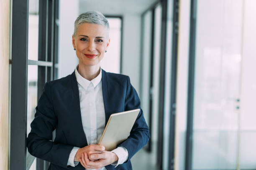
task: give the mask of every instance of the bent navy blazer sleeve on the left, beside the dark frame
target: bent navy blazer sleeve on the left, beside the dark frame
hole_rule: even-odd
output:
[[[35,118],[31,122],[31,132],[27,138],[28,152],[37,158],[67,168],[69,154],[73,146],[50,141],[52,140],[52,131],[56,128],[57,123],[50,85],[49,82],[46,82],[36,107]]]

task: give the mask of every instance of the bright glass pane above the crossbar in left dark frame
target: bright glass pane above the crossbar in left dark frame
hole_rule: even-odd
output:
[[[28,59],[38,60],[39,0],[29,0]]]

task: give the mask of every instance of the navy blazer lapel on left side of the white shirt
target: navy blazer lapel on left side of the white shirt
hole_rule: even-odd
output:
[[[79,135],[79,138],[82,139],[82,140],[77,141],[78,142],[77,145],[79,147],[84,147],[85,145],[88,145],[88,143],[87,143],[87,139],[86,139],[86,136],[84,133],[83,125],[82,125],[79,90],[78,90],[77,78],[76,78],[75,72],[73,72],[71,75],[71,81],[72,81],[72,89],[73,89],[73,95],[74,95],[74,100],[73,100],[74,117],[76,118],[78,126],[79,126],[79,128],[78,128],[79,131],[77,133]]]

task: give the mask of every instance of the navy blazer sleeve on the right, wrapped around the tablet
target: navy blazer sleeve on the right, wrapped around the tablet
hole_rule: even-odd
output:
[[[127,91],[125,96],[125,110],[133,110],[141,108],[140,99],[134,87],[131,85],[130,78],[127,76]],[[148,125],[141,110],[133,125],[130,136],[120,146],[124,146],[128,150],[128,160],[146,145],[150,138]],[[127,162],[126,161],[126,162]],[[125,162],[125,163],[126,163]]]

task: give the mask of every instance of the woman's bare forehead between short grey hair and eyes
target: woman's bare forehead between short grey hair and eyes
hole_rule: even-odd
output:
[[[107,32],[108,30],[104,26],[92,23],[82,23],[77,28],[77,36],[107,37]]]

